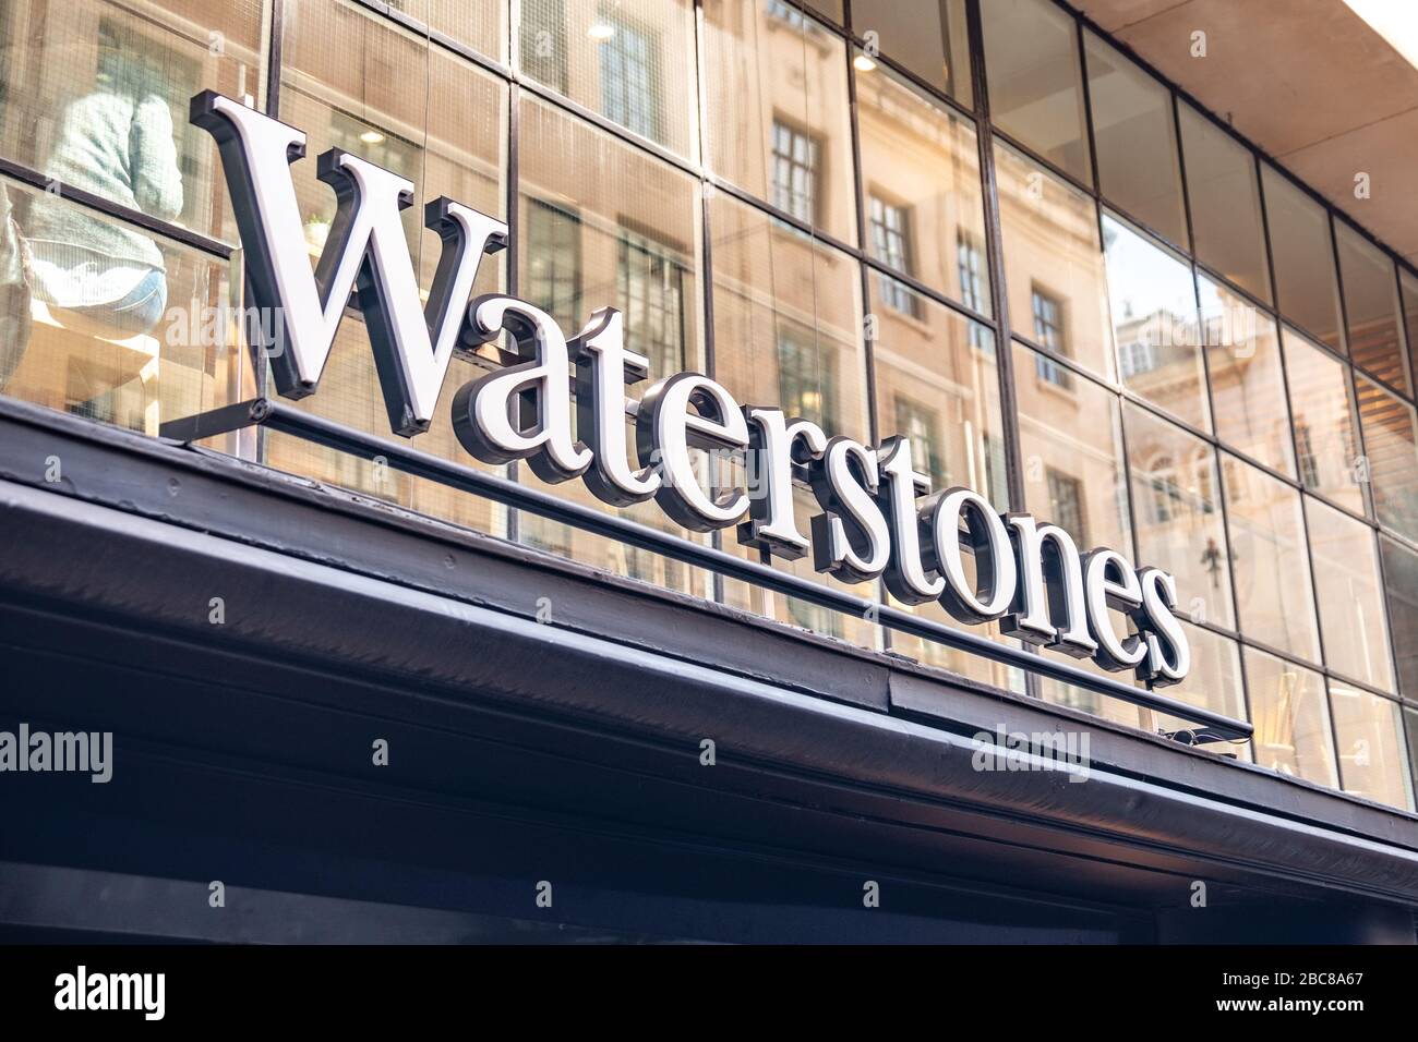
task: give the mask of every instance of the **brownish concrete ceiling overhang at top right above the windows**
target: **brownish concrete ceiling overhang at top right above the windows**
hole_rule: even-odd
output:
[[[1072,6],[1418,265],[1418,68],[1343,0]]]

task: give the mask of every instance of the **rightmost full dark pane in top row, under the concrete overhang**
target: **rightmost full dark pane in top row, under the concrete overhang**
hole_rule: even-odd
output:
[[[1398,333],[1398,284],[1394,262],[1343,221],[1334,225],[1339,242],[1349,356],[1380,380],[1408,390],[1408,366]]]

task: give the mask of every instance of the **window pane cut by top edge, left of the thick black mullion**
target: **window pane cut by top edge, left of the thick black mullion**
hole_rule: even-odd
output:
[[[888,58],[966,108],[974,105],[964,0],[852,0],[852,33],[875,33]]]

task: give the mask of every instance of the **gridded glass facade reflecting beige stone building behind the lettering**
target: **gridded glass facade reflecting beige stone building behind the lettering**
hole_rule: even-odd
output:
[[[403,174],[415,201],[498,214],[513,245],[486,259],[479,291],[523,296],[569,333],[614,305],[652,379],[703,369],[740,401],[831,434],[908,434],[933,488],[970,485],[1083,549],[1173,571],[1197,659],[1176,693],[1246,716],[1241,758],[1412,805],[1418,274],[1064,6],[142,11],[0,3],[4,394],[156,434],[264,387],[216,147],[186,119],[193,94],[220,91],[308,133],[295,181],[312,265],[335,208],[315,177],[329,147]],[[440,244],[420,214],[408,208],[406,230],[427,286]],[[445,396],[502,360],[464,352]],[[387,435],[357,312],[302,408]],[[468,462],[447,408],[415,444]],[[1176,726],[379,459],[275,435],[217,447],[1000,688]],[[815,506],[798,493],[805,529]],[[593,502],[579,485],[559,495]],[[666,525],[648,506],[627,513]],[[713,539],[747,554],[732,530]]]

